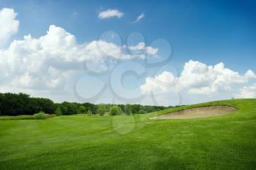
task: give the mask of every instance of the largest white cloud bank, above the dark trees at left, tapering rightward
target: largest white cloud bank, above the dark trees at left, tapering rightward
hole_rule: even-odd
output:
[[[124,51],[124,47],[102,40],[79,44],[74,35],[53,25],[38,39],[24,36],[14,40],[7,49],[0,49],[0,84],[33,89],[61,88],[83,63],[100,71],[106,69],[108,60],[141,58]]]

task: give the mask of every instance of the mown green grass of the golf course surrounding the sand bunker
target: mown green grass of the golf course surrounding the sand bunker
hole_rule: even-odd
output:
[[[148,120],[178,109],[238,111]],[[256,99],[215,101],[145,115],[0,120],[0,169],[255,169]]]

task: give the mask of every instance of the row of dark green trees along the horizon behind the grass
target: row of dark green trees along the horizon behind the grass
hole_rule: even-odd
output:
[[[57,104],[48,98],[34,98],[24,93],[0,93],[0,115],[34,115],[34,113],[40,111],[56,115],[129,115],[144,114],[167,108],[169,107],[143,106],[140,104],[80,104],[67,101]]]

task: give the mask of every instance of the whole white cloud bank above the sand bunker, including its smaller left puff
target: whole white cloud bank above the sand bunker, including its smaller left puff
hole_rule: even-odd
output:
[[[172,87],[163,85],[162,82],[173,80],[176,82],[175,88],[178,90],[186,90],[189,94],[211,95],[231,90],[233,85],[244,84],[250,79],[256,79],[255,73],[251,70],[242,75],[225,68],[224,63],[207,66],[199,61],[188,61],[185,63],[180,77],[173,78],[171,72],[165,71],[156,77],[148,77],[140,89],[142,93],[158,93],[159,91],[167,93]]]

